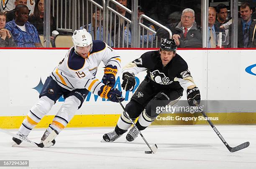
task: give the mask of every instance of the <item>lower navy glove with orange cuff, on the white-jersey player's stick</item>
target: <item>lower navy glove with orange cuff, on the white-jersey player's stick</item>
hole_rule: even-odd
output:
[[[110,86],[101,86],[98,95],[102,98],[107,98],[110,101],[118,102],[116,96],[118,96],[119,100],[122,102],[124,98],[122,97],[122,92],[116,88],[111,88]]]

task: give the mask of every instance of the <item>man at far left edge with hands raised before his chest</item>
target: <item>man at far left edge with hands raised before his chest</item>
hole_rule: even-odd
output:
[[[6,15],[0,12],[0,47],[15,47],[13,35],[5,29]]]

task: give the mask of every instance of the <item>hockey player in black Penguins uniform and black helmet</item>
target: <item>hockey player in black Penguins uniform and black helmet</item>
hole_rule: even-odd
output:
[[[176,53],[177,45],[173,39],[164,39],[160,50],[149,51],[140,58],[128,63],[123,68],[122,87],[125,91],[132,91],[135,86],[135,75],[147,71],[146,78],[138,86],[131,101],[125,106],[131,119],[138,118],[136,126],[138,130],[144,130],[159,115],[156,106],[174,105],[182,97],[183,90],[187,91],[189,106],[193,106],[195,99],[200,103],[200,91],[188,70],[186,61]],[[125,115],[121,114],[115,130],[104,134],[107,142],[115,141],[122,136],[132,123]],[[138,136],[138,131],[133,127],[126,139],[133,141]]]

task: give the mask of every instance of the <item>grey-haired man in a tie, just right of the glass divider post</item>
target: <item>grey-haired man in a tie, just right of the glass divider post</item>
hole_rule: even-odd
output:
[[[225,32],[224,29],[221,29],[217,24],[216,20],[216,10],[213,7],[209,7],[208,10],[208,48],[216,48],[216,34],[217,32]]]

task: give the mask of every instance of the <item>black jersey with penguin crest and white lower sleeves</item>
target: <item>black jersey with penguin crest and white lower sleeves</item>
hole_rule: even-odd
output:
[[[186,61],[177,53],[166,66],[161,62],[159,50],[155,50],[144,53],[123,68],[123,73],[129,72],[135,75],[142,71],[147,71],[146,78],[159,88],[182,87],[187,91],[196,86]]]

